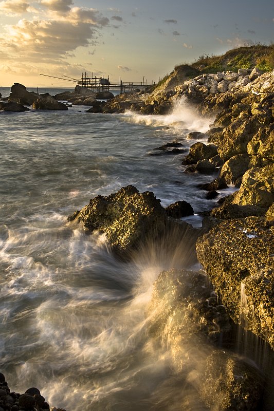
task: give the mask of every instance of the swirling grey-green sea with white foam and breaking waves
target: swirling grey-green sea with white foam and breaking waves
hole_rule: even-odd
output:
[[[0,371],[11,390],[38,387],[67,411],[181,410],[186,376],[173,369],[169,347],[153,344],[145,314],[172,258],[155,249],[118,260],[104,236],[67,217],[132,184],[163,207],[188,201],[194,216],[184,219],[200,227],[201,213],[234,189],[206,200],[197,184],[212,176],[185,174],[185,154],[151,154],[174,141],[187,153],[195,142],[187,135],[206,132],[214,118],[184,99],[166,116],[87,109],[0,113]]]

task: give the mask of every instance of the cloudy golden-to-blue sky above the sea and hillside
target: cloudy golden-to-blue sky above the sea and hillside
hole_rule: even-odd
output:
[[[0,0],[0,87],[55,76],[158,82],[201,55],[274,42],[273,0]]]

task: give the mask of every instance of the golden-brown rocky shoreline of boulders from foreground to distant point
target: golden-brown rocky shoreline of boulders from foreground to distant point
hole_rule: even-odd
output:
[[[178,372],[188,366],[186,358],[191,356],[194,341],[207,341],[215,347],[213,353],[203,353],[195,369],[198,381],[202,381],[195,389],[209,409],[271,411],[274,70],[262,74],[257,68],[240,69],[238,73],[198,74],[190,80],[186,67],[178,70],[152,92],[105,97],[106,102],[81,88],[54,98],[34,96],[15,83],[7,101],[0,102],[0,110],[20,111],[26,102],[35,109],[68,109],[59,99],[89,105],[89,113],[123,113],[130,109],[141,114],[168,114],[174,102],[184,98],[201,116],[215,115],[203,135],[203,139],[208,138],[207,144],[194,142],[187,155],[177,142],[158,147],[158,151],[169,151],[170,155],[181,154],[185,173],[209,176],[208,183],[200,186],[207,198],[214,198],[227,184],[239,189],[204,215],[202,229],[180,220],[186,207],[191,213],[189,205],[175,203],[165,210],[153,193],[139,193],[133,186],[91,199],[68,220],[69,224],[80,222],[88,232],[103,232],[119,258],[131,258],[145,248],[147,241],[167,244],[174,232],[178,244],[171,245],[171,253],[174,248],[179,250],[183,241],[187,242],[188,255],[195,254],[196,249],[207,276],[187,270],[159,274],[147,313],[151,333],[171,347]],[[199,133],[189,136],[194,141],[200,137]],[[185,258],[186,267],[193,263]],[[206,286],[208,279],[211,284]],[[230,350],[235,324],[258,338],[257,343],[265,341],[268,364],[263,370]],[[218,348],[221,336],[228,341],[225,352]],[[194,411],[191,406],[188,409]]]

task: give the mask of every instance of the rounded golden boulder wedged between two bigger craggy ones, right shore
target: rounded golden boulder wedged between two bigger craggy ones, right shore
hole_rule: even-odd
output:
[[[241,178],[249,167],[250,157],[244,154],[233,156],[222,166],[220,177],[228,184],[235,184]]]

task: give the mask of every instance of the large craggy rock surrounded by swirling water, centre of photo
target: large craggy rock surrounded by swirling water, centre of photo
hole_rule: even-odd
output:
[[[89,230],[106,234],[118,253],[135,249],[146,238],[156,238],[166,227],[167,213],[152,192],[139,193],[132,185],[107,197],[97,196],[69,217]]]

